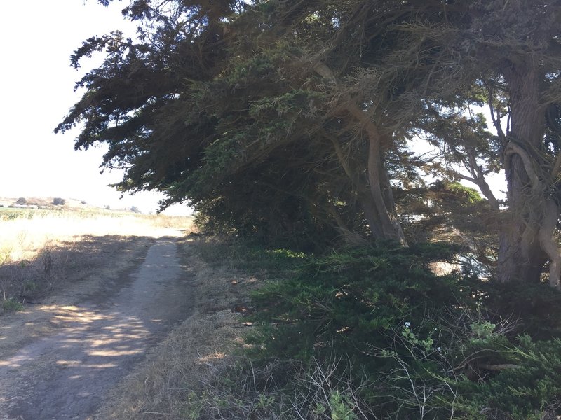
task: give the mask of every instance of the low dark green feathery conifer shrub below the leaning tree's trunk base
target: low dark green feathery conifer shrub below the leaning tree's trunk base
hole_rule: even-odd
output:
[[[360,357],[358,349],[367,351],[365,337],[367,346],[385,347],[386,335],[398,325],[466,304],[467,289],[456,276],[438,277],[428,269],[452,253],[441,244],[386,245],[311,258],[296,276],[254,293],[265,323],[255,339],[264,355],[300,360],[332,348]]]

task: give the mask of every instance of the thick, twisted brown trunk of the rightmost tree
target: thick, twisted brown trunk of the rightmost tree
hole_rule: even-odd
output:
[[[559,211],[547,197],[549,180],[541,174],[536,153],[543,150],[545,130],[544,108],[539,101],[541,75],[532,64],[508,63],[503,76],[511,100],[511,130],[503,149],[508,211],[499,237],[496,276],[501,283],[537,282],[543,265],[550,260],[551,274],[557,276],[550,282],[557,286],[559,257],[553,235]]]

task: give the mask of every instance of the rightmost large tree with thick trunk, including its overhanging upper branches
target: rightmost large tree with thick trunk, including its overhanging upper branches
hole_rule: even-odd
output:
[[[392,4],[400,21],[393,20],[386,35],[403,32],[405,43],[385,45],[393,49],[391,59],[374,77],[366,73],[363,85],[398,89],[391,98],[395,122],[439,138],[448,151],[445,175],[475,183],[495,211],[499,203],[485,175],[499,163],[507,209],[499,215],[496,278],[535,282],[548,266],[550,285],[560,288],[561,3],[387,2],[374,25],[386,25],[388,13],[393,17]],[[470,115],[470,106],[482,104],[489,106],[494,138]],[[466,171],[451,174],[454,160]]]

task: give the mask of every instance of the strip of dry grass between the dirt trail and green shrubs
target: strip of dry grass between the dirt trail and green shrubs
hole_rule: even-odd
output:
[[[227,265],[211,267],[195,248],[205,239],[187,240],[184,265],[194,274],[194,314],[175,329],[113,393],[95,419],[201,419],[218,406],[206,388],[236,364],[236,349],[249,329],[233,309],[245,304],[257,279]],[[208,244],[207,244],[208,246]]]

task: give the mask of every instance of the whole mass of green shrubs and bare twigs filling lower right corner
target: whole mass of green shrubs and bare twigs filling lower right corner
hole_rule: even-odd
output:
[[[559,414],[561,341],[535,341],[522,334],[525,322],[489,311],[486,305],[496,301],[489,300],[486,283],[431,272],[431,262],[450,261],[456,253],[441,244],[384,244],[306,258],[295,275],[252,296],[260,325],[250,337],[252,357],[261,365],[299,360],[311,376],[318,363],[348,360],[332,377],[350,375],[355,386],[346,389],[358,390],[353,403],[332,382],[325,392],[346,401],[349,419]],[[308,395],[305,385],[293,385],[295,375],[302,371],[275,377],[285,399]],[[309,418],[324,418],[317,408],[309,407],[317,416]],[[334,418],[326,410],[325,418]]]

